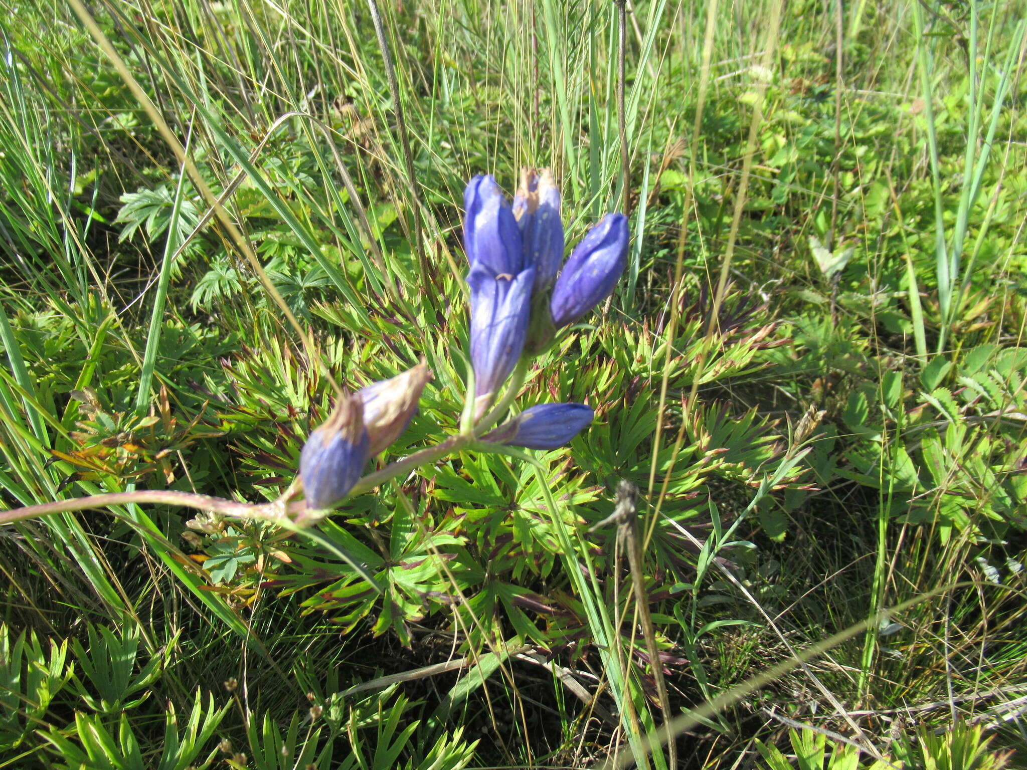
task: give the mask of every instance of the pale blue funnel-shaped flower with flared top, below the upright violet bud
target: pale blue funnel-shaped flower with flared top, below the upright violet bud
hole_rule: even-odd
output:
[[[470,362],[474,395],[482,402],[499,390],[521,357],[535,270],[495,273],[479,262],[470,268]],[[486,405],[487,406],[487,405]]]

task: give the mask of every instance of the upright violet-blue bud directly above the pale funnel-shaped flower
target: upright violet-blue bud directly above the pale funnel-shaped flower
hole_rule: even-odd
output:
[[[521,231],[491,177],[474,177],[463,191],[463,246],[470,266],[487,265],[497,275],[515,275],[524,266]]]

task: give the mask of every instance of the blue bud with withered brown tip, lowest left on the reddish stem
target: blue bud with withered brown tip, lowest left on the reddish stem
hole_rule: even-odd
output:
[[[308,508],[331,508],[346,496],[360,477],[370,444],[360,398],[343,395],[300,453],[300,477]]]

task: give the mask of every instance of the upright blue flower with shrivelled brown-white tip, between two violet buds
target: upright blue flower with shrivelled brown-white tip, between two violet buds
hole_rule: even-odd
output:
[[[514,217],[521,230],[524,266],[535,268],[535,290],[553,285],[564,259],[564,225],[560,221],[560,189],[548,168],[521,171],[514,198]]]

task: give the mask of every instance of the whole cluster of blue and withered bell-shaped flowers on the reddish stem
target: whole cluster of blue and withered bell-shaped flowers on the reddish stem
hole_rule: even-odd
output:
[[[613,292],[627,256],[627,218],[608,214],[564,257],[560,190],[548,170],[525,170],[510,203],[496,181],[478,176],[464,191],[464,247],[470,270],[470,361],[473,393],[462,446],[507,445],[551,450],[570,441],[593,420],[583,403],[542,403],[491,432],[487,417],[518,365],[544,350],[557,330],[582,318]],[[424,363],[344,394],[315,429],[300,455],[307,508],[322,510],[342,500],[360,477],[368,458],[406,430],[431,373]],[[517,395],[507,388],[495,417]],[[483,419],[485,418],[485,419]]]

